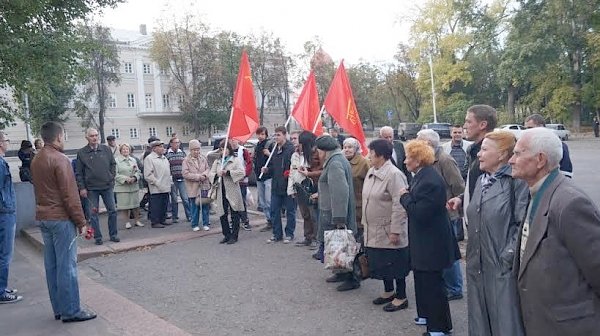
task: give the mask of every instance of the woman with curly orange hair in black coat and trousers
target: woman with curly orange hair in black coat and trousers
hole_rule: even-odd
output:
[[[400,203],[408,214],[418,314],[415,323],[427,325],[424,335],[444,335],[452,330],[452,319],[442,271],[460,257],[446,210],[446,183],[432,167],[435,154],[427,142],[412,140],[405,149],[404,163],[415,174],[410,191],[400,191]]]

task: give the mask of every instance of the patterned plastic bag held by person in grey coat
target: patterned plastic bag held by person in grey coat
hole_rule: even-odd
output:
[[[354,258],[358,254],[360,244],[356,242],[352,231],[325,231],[325,269],[333,271],[352,271]]]

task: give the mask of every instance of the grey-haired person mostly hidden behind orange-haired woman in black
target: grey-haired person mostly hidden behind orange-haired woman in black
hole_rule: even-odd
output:
[[[446,183],[447,200],[462,194],[465,191],[465,182],[460,175],[456,161],[440,147],[440,135],[432,129],[424,129],[417,133],[417,139],[426,141],[435,151],[433,168]],[[463,230],[462,219],[456,210],[449,211],[448,214],[450,215],[454,237],[458,239],[457,233]],[[463,278],[460,269],[460,260],[455,260],[452,266],[442,272],[442,276],[446,285],[448,301],[462,299]]]

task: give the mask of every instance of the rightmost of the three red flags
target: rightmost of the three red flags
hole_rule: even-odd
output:
[[[360,116],[356,110],[350,81],[344,68],[344,61],[340,63],[329,87],[329,92],[327,92],[325,109],[340,127],[360,142],[363,155],[367,155],[369,149],[365,141],[365,132],[362,129]]]

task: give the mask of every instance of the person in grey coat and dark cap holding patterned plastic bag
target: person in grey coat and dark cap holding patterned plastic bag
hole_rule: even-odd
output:
[[[327,230],[356,230],[356,207],[354,205],[354,186],[352,168],[338,146],[337,139],[323,135],[316,140],[319,161],[323,162],[323,171],[319,178],[319,240],[324,241]],[[340,292],[360,287],[360,282],[352,272],[335,273],[327,282],[342,282],[337,287]]]

